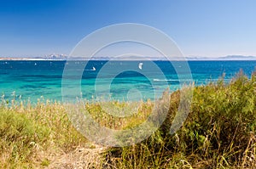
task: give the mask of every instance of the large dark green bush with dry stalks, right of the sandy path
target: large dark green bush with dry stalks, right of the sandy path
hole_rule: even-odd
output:
[[[256,166],[256,76],[238,73],[195,87],[188,118],[168,134],[177,112],[180,91],[172,93],[166,121],[153,136],[131,147],[109,149],[117,168],[249,167]]]

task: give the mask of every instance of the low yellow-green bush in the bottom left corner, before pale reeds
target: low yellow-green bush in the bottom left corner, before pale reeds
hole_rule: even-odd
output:
[[[33,161],[33,157],[49,138],[49,128],[31,121],[27,115],[13,110],[0,110],[0,152],[2,166]]]

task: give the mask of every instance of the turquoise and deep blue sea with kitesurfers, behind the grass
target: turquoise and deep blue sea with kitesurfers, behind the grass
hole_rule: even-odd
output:
[[[256,61],[108,61],[1,60],[0,96],[4,100],[158,99],[169,89],[224,82],[243,72],[250,77]]]

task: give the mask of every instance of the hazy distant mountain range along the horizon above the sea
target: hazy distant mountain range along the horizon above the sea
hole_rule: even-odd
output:
[[[31,58],[7,58],[7,57],[0,57],[0,60],[86,60],[89,58],[84,57],[73,57],[73,56],[67,56],[65,54],[49,54],[44,57],[31,57]],[[122,58],[113,58],[113,57],[94,57],[90,58],[91,60],[166,60],[166,58],[159,58],[159,57],[149,57],[149,56],[134,56],[134,57],[122,57]],[[172,57],[172,60],[184,60],[178,57]],[[243,56],[243,55],[228,55],[224,57],[216,57],[216,58],[210,58],[210,57],[185,57],[187,60],[256,60],[256,56]]]

